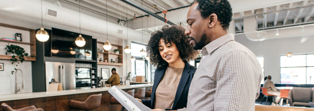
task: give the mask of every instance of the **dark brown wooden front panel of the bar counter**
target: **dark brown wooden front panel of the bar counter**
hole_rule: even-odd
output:
[[[152,86],[146,87],[146,90],[149,91]],[[139,88],[135,89],[135,92]],[[127,92],[132,89],[122,89]],[[52,96],[52,97],[43,97],[43,98],[30,98],[30,99],[20,99],[20,100],[10,100],[2,101],[0,103],[7,103],[13,109],[22,108],[30,105],[34,105],[36,108],[42,108],[44,111],[77,111],[74,109],[69,109],[68,102],[70,100],[75,101],[85,101],[90,95],[102,93],[101,104],[100,106],[92,111],[120,111],[122,108],[121,104],[110,104],[110,98],[112,97],[108,91],[102,92],[93,92],[93,93],[80,93],[80,94],[71,94],[71,95],[62,95],[62,96]],[[0,111],[3,109],[0,107]]]

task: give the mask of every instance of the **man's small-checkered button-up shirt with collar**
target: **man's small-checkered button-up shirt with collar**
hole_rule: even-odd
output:
[[[224,35],[203,47],[187,108],[178,111],[252,111],[262,78],[256,56],[233,34]]]

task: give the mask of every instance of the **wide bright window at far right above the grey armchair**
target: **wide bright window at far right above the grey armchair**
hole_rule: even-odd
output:
[[[280,56],[280,82],[314,84],[314,54]]]

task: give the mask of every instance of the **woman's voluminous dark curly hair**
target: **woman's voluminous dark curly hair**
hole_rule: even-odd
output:
[[[184,34],[184,28],[176,25],[164,25],[162,29],[157,30],[151,34],[147,45],[147,54],[152,65],[156,68],[166,68],[168,63],[161,57],[159,52],[159,41],[164,40],[164,43],[174,43],[179,51],[180,57],[183,61],[194,60],[199,53],[198,50],[194,50],[189,43],[187,36]]]

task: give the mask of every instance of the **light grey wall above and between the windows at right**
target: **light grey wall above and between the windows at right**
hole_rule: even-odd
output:
[[[274,83],[280,83],[280,55],[314,53],[314,36],[268,39],[253,42],[244,34],[236,35],[235,41],[249,48],[256,56],[264,56],[265,76],[271,75]]]

